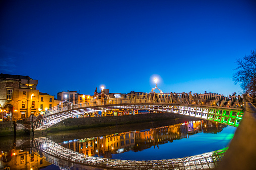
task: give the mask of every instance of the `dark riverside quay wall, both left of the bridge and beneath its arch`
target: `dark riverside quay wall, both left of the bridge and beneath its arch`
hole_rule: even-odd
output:
[[[58,122],[57,124],[49,127],[47,130],[35,130],[34,133],[45,133],[61,130],[83,129],[92,127],[104,127],[121,124],[152,122],[167,119],[187,119],[191,117],[183,115],[175,115],[170,113],[150,113],[150,114],[137,114],[127,116],[109,116],[109,117],[83,117],[83,118],[69,118]],[[193,119],[193,118],[192,118]],[[196,118],[194,118],[197,120]],[[194,120],[193,119],[193,120]],[[28,119],[0,122],[0,136],[7,135],[23,135],[32,134],[33,123]]]

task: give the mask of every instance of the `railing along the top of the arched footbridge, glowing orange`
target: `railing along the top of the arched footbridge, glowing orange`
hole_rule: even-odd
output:
[[[179,104],[195,104],[195,105],[209,105],[230,108],[243,108],[243,98],[241,96],[224,96],[219,94],[191,94],[191,93],[144,93],[144,94],[121,94],[121,97],[105,97],[91,99],[88,102],[81,102],[76,104],[63,103],[46,110],[43,117],[55,114],[61,111],[71,110],[74,108],[82,108],[86,106],[99,106],[111,104],[125,104],[125,103],[179,103]]]

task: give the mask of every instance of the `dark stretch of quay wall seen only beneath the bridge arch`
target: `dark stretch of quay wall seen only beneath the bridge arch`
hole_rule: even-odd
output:
[[[166,120],[174,118],[189,118],[187,116],[175,115],[170,113],[137,114],[129,116],[110,116],[110,117],[86,117],[65,119],[47,129],[50,131],[72,130],[91,127],[102,127],[120,124],[150,122],[156,120]]]

